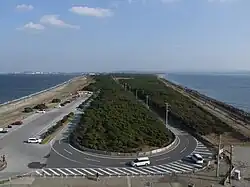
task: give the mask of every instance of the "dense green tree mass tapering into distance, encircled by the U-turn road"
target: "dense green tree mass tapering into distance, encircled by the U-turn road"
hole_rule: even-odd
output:
[[[71,134],[72,144],[129,153],[164,147],[173,141],[174,135],[159,118],[110,76],[96,76],[95,83],[84,90],[99,94]]]

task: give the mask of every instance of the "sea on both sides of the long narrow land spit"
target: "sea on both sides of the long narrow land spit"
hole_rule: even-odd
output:
[[[76,75],[0,75],[0,104],[63,83]],[[167,80],[250,112],[250,75],[167,73]]]

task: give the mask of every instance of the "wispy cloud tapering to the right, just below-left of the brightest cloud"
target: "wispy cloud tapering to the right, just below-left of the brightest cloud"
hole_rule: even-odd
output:
[[[40,22],[45,25],[51,25],[60,28],[80,29],[80,26],[78,25],[71,25],[59,19],[59,15],[44,15],[40,19]]]

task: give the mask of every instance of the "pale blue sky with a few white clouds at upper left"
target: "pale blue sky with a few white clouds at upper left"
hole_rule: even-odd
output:
[[[1,0],[0,72],[250,70],[250,0]]]

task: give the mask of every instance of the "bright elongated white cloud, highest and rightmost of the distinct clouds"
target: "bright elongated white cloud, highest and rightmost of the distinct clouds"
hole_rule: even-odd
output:
[[[100,18],[113,16],[113,12],[110,9],[104,9],[104,8],[73,6],[72,8],[69,9],[69,11],[78,15],[94,16],[94,17],[100,17]]]

